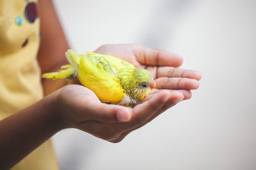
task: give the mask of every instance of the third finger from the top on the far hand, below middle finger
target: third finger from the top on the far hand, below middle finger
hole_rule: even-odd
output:
[[[199,82],[191,78],[161,77],[155,80],[157,89],[194,90],[198,89]]]

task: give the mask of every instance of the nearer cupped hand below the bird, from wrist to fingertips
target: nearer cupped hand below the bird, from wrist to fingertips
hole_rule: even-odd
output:
[[[163,90],[129,108],[101,103],[90,89],[81,85],[67,85],[50,96],[61,129],[74,127],[111,142],[121,141],[129,132],[184,99],[180,92]]]

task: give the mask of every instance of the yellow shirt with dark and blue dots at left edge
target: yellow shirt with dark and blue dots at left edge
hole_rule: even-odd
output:
[[[43,97],[36,60],[40,32],[35,4],[26,0],[0,0],[0,119]],[[51,141],[12,169],[58,169]]]

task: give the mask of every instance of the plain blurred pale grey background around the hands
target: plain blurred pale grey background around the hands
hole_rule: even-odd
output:
[[[58,132],[61,169],[256,169],[256,1],[54,0],[70,46],[138,43],[201,71],[192,99],[120,143]]]

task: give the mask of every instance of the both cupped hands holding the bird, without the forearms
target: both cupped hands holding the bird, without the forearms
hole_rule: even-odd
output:
[[[57,91],[56,108],[64,113],[65,125],[110,142],[122,141],[163,111],[189,99],[189,90],[198,88],[200,73],[177,68],[182,64],[179,55],[139,45],[104,45],[95,52],[120,57],[136,67],[148,69],[157,83],[157,89],[134,108],[100,103],[91,90],[79,85],[68,85]]]

